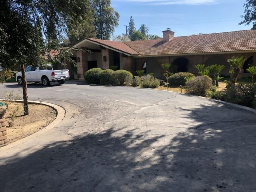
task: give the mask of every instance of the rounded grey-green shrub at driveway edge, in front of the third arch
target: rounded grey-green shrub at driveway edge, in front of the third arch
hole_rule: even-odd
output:
[[[205,96],[206,92],[212,87],[212,78],[204,75],[192,78],[186,83],[186,91],[188,94]]]

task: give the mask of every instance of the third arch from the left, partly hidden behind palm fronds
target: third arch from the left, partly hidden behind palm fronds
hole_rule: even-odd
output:
[[[224,76],[229,76],[229,71],[230,71],[230,64],[227,62],[227,59],[221,55],[216,55],[216,56],[212,56],[210,58],[208,58],[205,62],[204,65],[210,66],[210,65],[224,65],[225,68],[222,69],[222,71],[220,72],[220,75],[224,75]]]

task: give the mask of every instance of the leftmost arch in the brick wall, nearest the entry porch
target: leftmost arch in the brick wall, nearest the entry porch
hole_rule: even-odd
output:
[[[161,78],[161,65],[154,58],[150,58],[144,63],[143,70],[146,74],[154,73],[156,78]]]

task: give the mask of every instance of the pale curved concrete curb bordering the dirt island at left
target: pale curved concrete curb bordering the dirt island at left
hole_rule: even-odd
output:
[[[23,100],[16,100],[16,102],[23,102]],[[28,101],[30,104],[40,104],[39,101],[32,101],[32,100],[29,100]],[[37,136],[41,135],[41,134],[44,134],[45,132],[51,130],[52,128],[54,128],[56,125],[58,125],[62,120],[63,118],[65,117],[66,115],[66,110],[59,106],[59,105],[56,105],[56,104],[52,104],[52,103],[48,103],[48,102],[41,102],[42,105],[46,105],[46,106],[49,106],[51,108],[53,108],[56,112],[57,112],[57,116],[56,118],[54,119],[53,122],[51,122],[48,126],[46,126],[45,128],[39,130],[38,132],[35,132],[34,134],[32,135],[29,135],[23,139],[20,139],[18,141],[15,141],[11,144],[8,144],[6,146],[3,146],[3,147],[0,147],[0,151],[4,151],[4,150],[8,150],[14,146],[17,146],[19,144],[23,144],[25,142],[27,142],[28,140],[31,140],[31,139],[34,139],[36,138]],[[8,133],[7,133],[8,135]]]

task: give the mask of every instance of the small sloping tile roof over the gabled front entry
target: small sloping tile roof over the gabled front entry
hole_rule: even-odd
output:
[[[115,42],[115,41],[108,41],[108,40],[101,40],[101,39],[94,39],[94,38],[86,38],[86,39],[108,46],[116,50],[120,50],[122,52],[131,54],[131,55],[139,54],[138,52],[136,52],[134,49],[130,48],[130,46],[124,44],[123,42]]]

